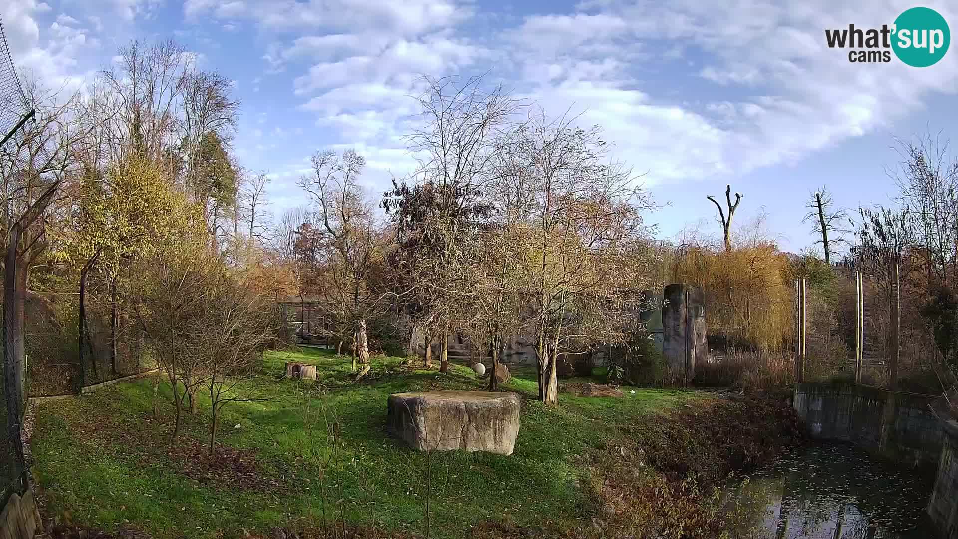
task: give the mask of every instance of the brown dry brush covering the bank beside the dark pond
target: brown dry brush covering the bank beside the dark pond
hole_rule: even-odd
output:
[[[721,485],[802,439],[785,399],[769,394],[711,399],[643,421],[621,445],[590,457],[598,526],[580,537],[717,537],[733,526]]]

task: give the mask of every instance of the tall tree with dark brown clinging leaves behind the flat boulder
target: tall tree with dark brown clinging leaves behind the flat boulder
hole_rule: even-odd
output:
[[[422,128],[407,137],[419,167],[394,180],[382,205],[397,225],[395,262],[405,312],[426,335],[427,365],[432,336],[441,336],[440,371],[445,372],[448,337],[455,331],[450,313],[468,290],[462,283],[468,261],[459,246],[489,213],[481,193],[499,172],[496,145],[523,105],[502,87],[485,90],[481,77],[465,82],[424,77],[422,82]]]

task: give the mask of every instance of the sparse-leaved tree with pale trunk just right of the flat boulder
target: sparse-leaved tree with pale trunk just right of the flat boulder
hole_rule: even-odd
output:
[[[623,340],[629,305],[645,290],[634,289],[643,277],[631,254],[648,230],[641,212],[651,201],[628,168],[604,162],[600,130],[574,121],[539,113],[520,129],[510,167],[535,182],[522,270],[546,403],[558,401],[557,363]]]

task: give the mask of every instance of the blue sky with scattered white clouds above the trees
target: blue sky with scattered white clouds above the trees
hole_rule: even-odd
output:
[[[82,87],[129,39],[173,38],[235,81],[239,162],[273,177],[274,212],[306,202],[296,178],[319,148],[355,148],[370,191],[413,166],[418,75],[487,73],[548,113],[603,126],[612,157],[648,172],[663,236],[718,230],[726,183],[789,250],[810,245],[811,189],[887,202],[894,135],[958,144],[958,51],[918,69],[853,64],[826,28],[890,24],[907,2],[636,0],[0,0],[14,61]],[[958,28],[958,6],[925,2]],[[955,152],[958,154],[958,152]]]

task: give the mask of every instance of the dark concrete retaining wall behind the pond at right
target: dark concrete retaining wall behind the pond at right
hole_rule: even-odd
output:
[[[854,442],[882,457],[933,469],[942,454],[938,397],[853,384],[796,384],[793,406],[812,437]]]

